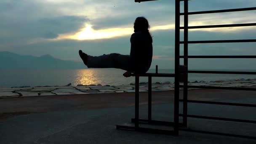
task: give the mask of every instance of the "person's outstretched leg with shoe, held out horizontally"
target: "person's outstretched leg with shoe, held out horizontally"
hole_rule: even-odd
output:
[[[88,56],[86,53],[83,53],[83,51],[80,50],[79,56],[88,68],[117,68],[126,71],[131,70],[129,55],[110,53],[101,56]]]

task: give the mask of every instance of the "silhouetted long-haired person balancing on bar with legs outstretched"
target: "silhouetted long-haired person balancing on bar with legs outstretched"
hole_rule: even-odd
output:
[[[130,77],[131,73],[146,73],[152,62],[152,37],[149,33],[149,23],[146,18],[138,17],[134,22],[134,33],[131,35],[130,55],[119,53],[89,56],[79,50],[79,56],[88,68],[117,68],[126,70],[123,75]]]

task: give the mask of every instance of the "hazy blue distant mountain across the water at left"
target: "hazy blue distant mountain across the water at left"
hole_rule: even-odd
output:
[[[0,52],[0,69],[4,68],[85,68],[83,62],[64,61],[55,59],[51,55],[21,56],[7,51]]]

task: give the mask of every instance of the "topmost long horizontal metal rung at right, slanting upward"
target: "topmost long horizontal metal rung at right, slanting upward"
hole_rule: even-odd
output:
[[[256,7],[252,7],[252,8],[235,8],[235,9],[216,10],[216,11],[196,11],[196,12],[189,12],[188,15],[206,14],[206,13],[226,13],[226,12],[235,12],[235,11],[252,11],[252,10],[256,10]],[[184,13],[180,13],[180,15],[183,16]]]

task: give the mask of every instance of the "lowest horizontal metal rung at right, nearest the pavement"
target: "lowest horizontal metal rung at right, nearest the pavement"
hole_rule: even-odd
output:
[[[198,131],[198,130],[192,130],[192,129],[187,129],[187,128],[179,128],[179,131],[214,134],[214,135],[221,135],[221,136],[233,136],[233,137],[245,138],[245,139],[256,139],[256,137],[254,137],[254,136],[244,136],[244,135],[237,135],[237,134],[230,134],[230,133],[218,133],[218,132],[212,132],[212,131]]]

